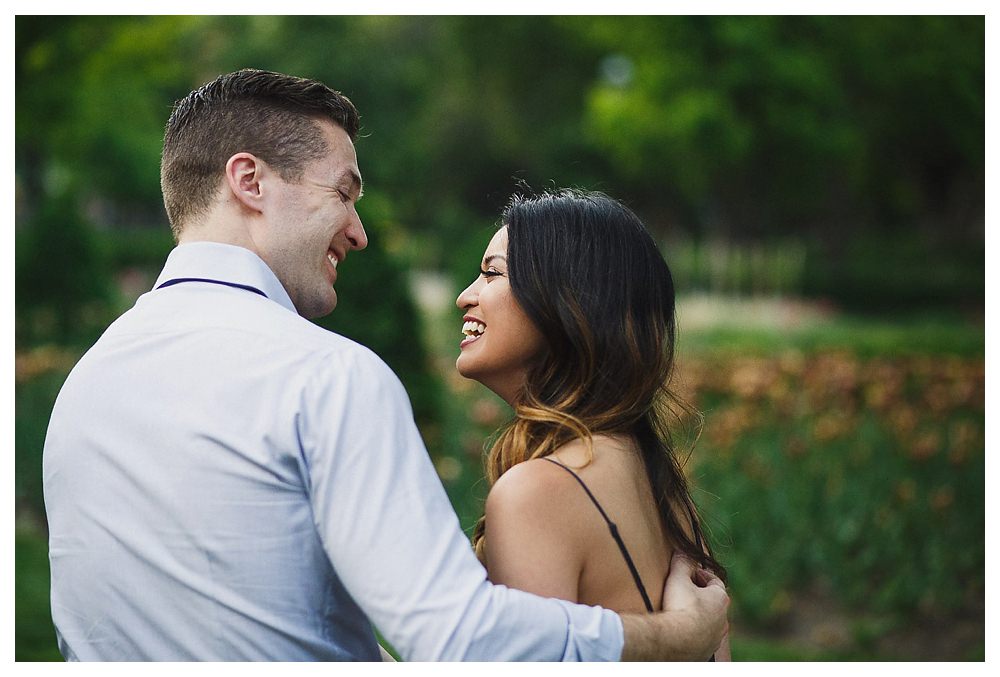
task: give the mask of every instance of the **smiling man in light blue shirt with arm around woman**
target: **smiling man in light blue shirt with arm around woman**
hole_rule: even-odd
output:
[[[706,659],[728,603],[676,561],[664,613],[493,586],[398,379],[303,318],[364,249],[358,116],[264,71],[192,92],[161,182],[178,246],[81,359],[45,442],[52,615],[79,660]],[[697,583],[695,582],[697,581]]]

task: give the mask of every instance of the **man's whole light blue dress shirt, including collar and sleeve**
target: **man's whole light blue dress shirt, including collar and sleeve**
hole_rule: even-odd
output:
[[[43,479],[79,660],[617,660],[621,620],[491,585],[370,350],[249,250],[174,249],[56,401]]]

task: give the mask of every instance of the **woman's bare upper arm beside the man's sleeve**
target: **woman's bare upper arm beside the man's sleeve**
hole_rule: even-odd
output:
[[[486,568],[492,582],[579,600],[586,534],[574,509],[579,488],[567,478],[551,463],[533,460],[497,480],[486,498]]]

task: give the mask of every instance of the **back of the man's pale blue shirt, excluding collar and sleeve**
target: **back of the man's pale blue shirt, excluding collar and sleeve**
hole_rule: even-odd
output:
[[[155,290],[119,318],[67,379],[46,439],[64,655],[377,659],[299,451],[317,362],[366,353],[206,283]]]

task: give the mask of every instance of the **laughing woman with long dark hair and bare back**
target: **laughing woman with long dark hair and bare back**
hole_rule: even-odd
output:
[[[514,410],[473,536],[490,579],[619,612],[660,608],[674,551],[725,580],[667,432],[674,289],[652,238],[600,193],[515,197],[502,224],[457,300],[458,371]]]

